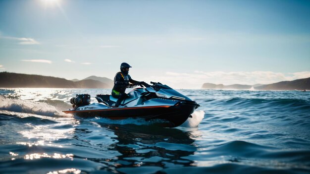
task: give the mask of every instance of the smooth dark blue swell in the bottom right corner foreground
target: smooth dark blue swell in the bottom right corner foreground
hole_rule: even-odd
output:
[[[259,145],[247,141],[235,140],[215,146],[207,146],[203,151],[201,151],[201,154],[203,155],[196,156],[196,160],[206,161],[207,163],[198,163],[196,164],[197,166],[209,166],[213,168],[219,162],[224,162],[227,163],[226,165],[241,165],[246,168],[252,168],[254,166],[255,168],[261,167],[260,169],[257,168],[260,172],[262,172],[262,170],[270,169],[271,173],[273,173],[273,170],[279,170],[277,172],[281,173],[281,170],[293,168],[299,168],[300,170],[310,169],[309,166],[303,164],[306,159],[310,158],[309,149],[283,150],[279,147]],[[283,172],[284,171],[282,171],[282,173]],[[234,172],[230,171],[228,173]],[[251,174],[252,173],[253,171],[251,171]],[[276,172],[274,171],[274,173]]]

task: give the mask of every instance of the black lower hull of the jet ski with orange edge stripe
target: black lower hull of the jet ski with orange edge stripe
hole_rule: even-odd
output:
[[[63,111],[79,117],[105,117],[110,119],[142,118],[145,120],[160,120],[158,124],[163,127],[177,127],[184,123],[199,105],[195,103],[180,102],[174,106],[151,107],[124,107],[106,108],[83,111]],[[157,123],[156,123],[157,124]]]

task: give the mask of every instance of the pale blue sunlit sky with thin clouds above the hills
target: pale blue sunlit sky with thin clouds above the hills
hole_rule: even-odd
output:
[[[310,0],[0,0],[0,71],[270,84],[310,77]]]

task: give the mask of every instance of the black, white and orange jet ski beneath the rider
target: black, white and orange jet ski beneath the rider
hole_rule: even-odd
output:
[[[136,86],[118,108],[114,107],[117,98],[112,95],[99,94],[95,97],[98,103],[90,104],[90,95],[79,94],[70,100],[73,109],[63,112],[79,117],[159,120],[163,127],[177,127],[200,106],[167,85],[159,82],[151,84]]]

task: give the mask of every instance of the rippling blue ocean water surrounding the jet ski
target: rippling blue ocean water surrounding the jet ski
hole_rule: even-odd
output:
[[[178,90],[180,127],[63,114],[101,89],[0,89],[0,174],[309,174],[310,92]]]

